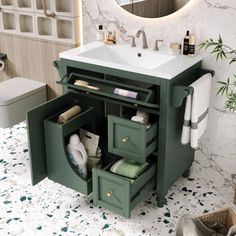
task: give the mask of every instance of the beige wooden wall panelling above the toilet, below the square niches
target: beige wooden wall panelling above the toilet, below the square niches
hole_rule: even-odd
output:
[[[0,81],[21,76],[48,85],[48,98],[61,94],[57,70],[52,62],[59,53],[73,48],[73,45],[31,39],[0,33],[0,52],[7,54],[6,67],[0,71]]]

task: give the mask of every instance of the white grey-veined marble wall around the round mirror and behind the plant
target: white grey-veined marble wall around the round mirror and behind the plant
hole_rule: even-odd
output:
[[[134,35],[138,29],[143,28],[150,47],[153,47],[155,39],[163,39],[164,46],[173,41],[182,43],[186,30],[190,30],[196,34],[197,44],[210,37],[216,39],[221,34],[224,42],[236,49],[235,20],[235,0],[190,0],[178,12],[157,19],[133,16],[113,0],[83,0],[84,43],[94,41],[97,25],[103,24],[106,29],[115,29],[120,41],[122,41],[119,37],[122,35],[121,29],[126,31],[126,35]],[[141,39],[137,39],[136,43],[140,47]],[[215,107],[222,108],[224,102],[221,97],[216,97],[218,87],[216,81],[227,79],[232,73],[236,73],[236,63],[229,67],[226,62],[217,63],[214,56],[204,50],[197,53],[205,56],[203,66],[216,72],[212,86],[209,125],[203,140],[204,151],[235,157],[236,114],[231,114],[229,119]],[[228,143],[227,148],[224,147],[225,143]]]

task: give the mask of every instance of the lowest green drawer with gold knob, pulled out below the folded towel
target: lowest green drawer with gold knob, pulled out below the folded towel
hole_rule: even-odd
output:
[[[93,168],[94,205],[107,208],[119,215],[130,217],[131,210],[149,194],[155,186],[156,164],[152,164],[137,179]]]

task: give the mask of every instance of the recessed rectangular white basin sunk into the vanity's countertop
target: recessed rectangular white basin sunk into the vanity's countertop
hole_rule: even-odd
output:
[[[140,67],[148,70],[152,70],[175,58],[175,56],[166,55],[160,52],[132,48],[126,45],[109,46],[104,44],[78,55],[95,60]]]

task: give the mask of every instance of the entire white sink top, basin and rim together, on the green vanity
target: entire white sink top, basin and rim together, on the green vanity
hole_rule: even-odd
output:
[[[201,56],[170,55],[168,49],[132,48],[129,45],[106,45],[92,42],[60,53],[60,58],[106,68],[172,79],[202,60]],[[79,65],[78,65],[79,66]]]

